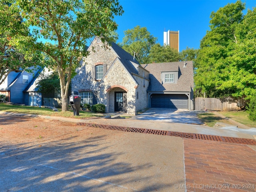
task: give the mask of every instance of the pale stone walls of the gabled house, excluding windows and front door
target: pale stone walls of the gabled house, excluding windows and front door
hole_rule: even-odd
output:
[[[93,52],[92,47],[94,47]],[[103,48],[102,43],[97,43],[96,40],[92,42],[88,50],[90,55],[82,60],[80,67],[76,69],[76,76],[72,79],[72,94],[79,94],[82,91],[97,93],[96,102],[104,104],[106,112],[115,111],[115,92],[123,92],[126,97],[124,112],[135,115],[138,110],[147,108],[146,98],[149,80],[138,72],[137,74],[131,72],[131,68],[135,72],[138,69],[132,64],[128,67],[125,66],[122,60],[128,60],[127,58],[121,59],[116,50],[112,47]],[[106,65],[106,73],[101,80],[95,80],[93,68],[101,64]],[[140,67],[140,71],[142,70],[143,68]],[[144,73],[148,74],[146,70]]]

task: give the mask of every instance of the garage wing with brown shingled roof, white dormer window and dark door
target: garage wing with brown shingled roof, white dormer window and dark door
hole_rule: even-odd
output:
[[[142,64],[150,71],[149,108],[194,109],[193,62]]]

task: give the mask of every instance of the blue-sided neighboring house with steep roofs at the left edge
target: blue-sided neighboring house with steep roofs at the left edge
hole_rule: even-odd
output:
[[[42,105],[42,94],[37,92],[36,83],[40,75],[48,73],[48,68],[34,68],[33,72],[12,71],[0,85],[0,94],[8,97],[8,102],[29,106]]]

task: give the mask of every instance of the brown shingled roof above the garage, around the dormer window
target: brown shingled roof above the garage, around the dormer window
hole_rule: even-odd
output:
[[[193,62],[168,62],[142,64],[150,72],[150,86],[148,91],[151,92],[190,92],[194,88],[194,71]],[[162,72],[178,72],[177,83],[163,83]]]

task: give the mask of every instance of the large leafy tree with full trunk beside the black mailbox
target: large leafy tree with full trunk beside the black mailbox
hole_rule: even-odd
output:
[[[115,15],[123,13],[118,0],[17,0],[24,24],[32,28],[34,50],[53,61],[60,79],[62,111],[68,110],[68,88],[85,46],[94,36],[103,42],[117,29]]]

